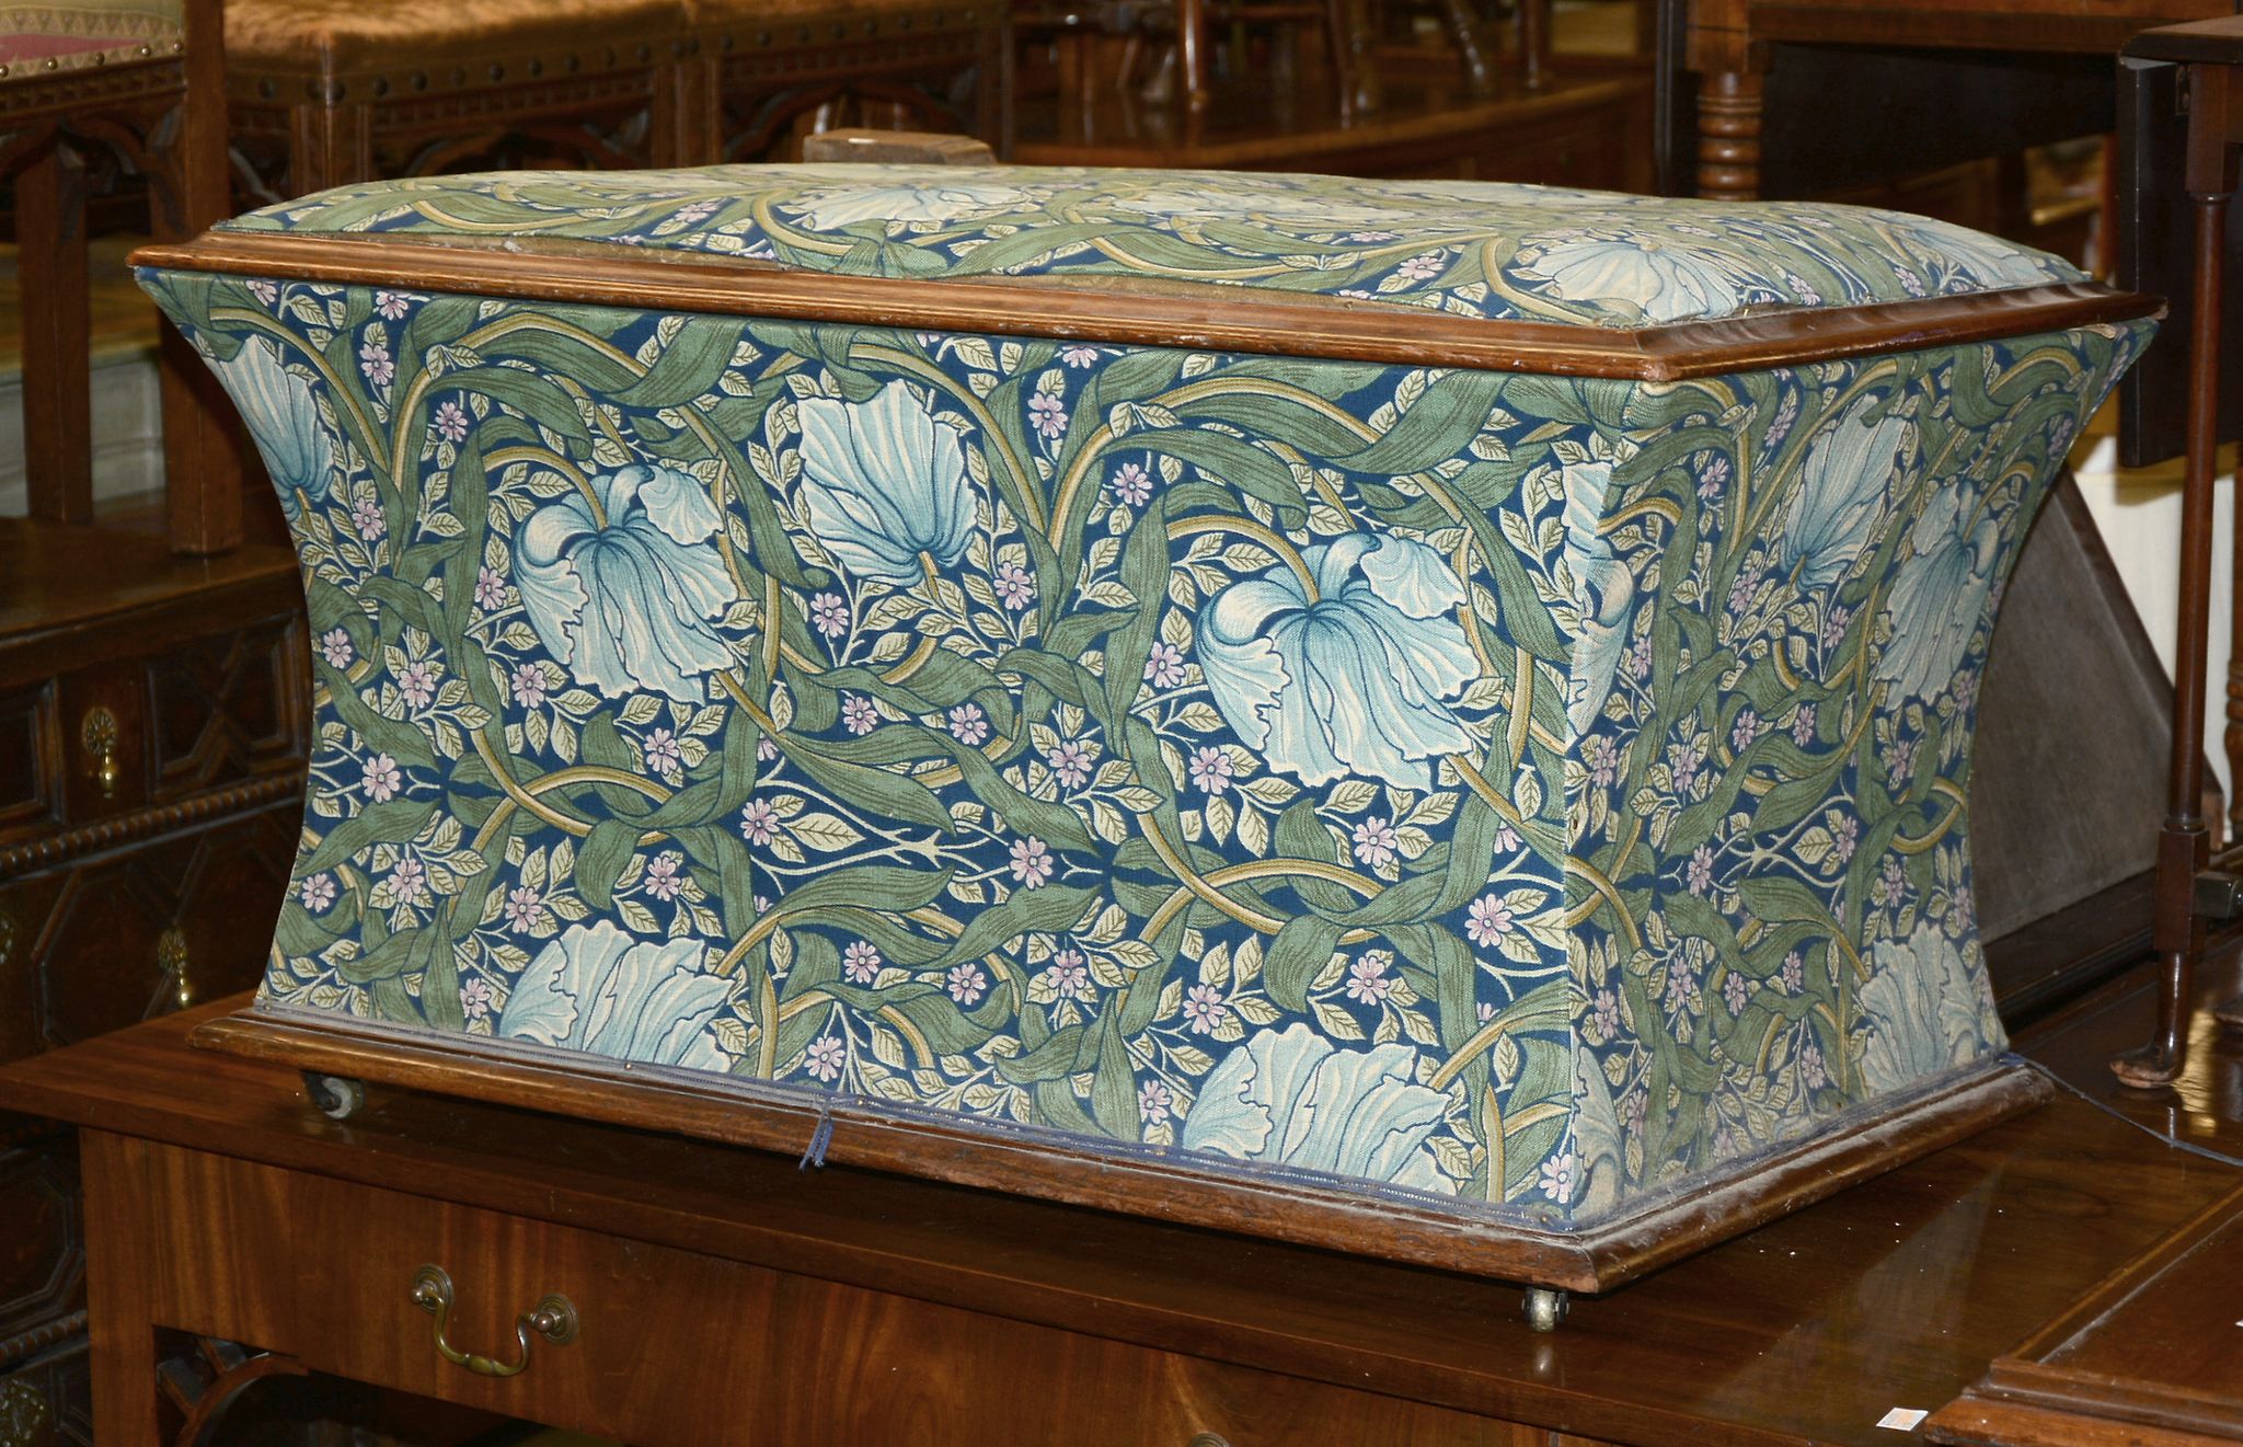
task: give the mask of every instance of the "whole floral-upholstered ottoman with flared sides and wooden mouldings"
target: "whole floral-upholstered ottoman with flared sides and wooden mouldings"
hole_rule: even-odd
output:
[[[319,648],[213,1043],[1559,1288],[2039,1097],[1976,684],[2151,330],[2064,262],[873,166],[144,256]]]

